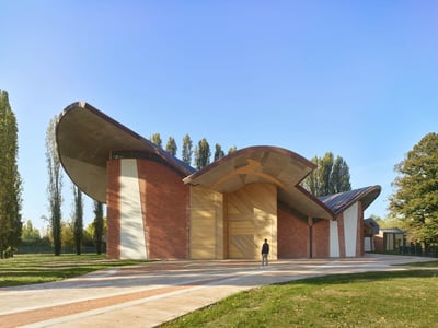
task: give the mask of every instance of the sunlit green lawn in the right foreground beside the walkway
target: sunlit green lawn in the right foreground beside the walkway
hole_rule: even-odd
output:
[[[262,286],[162,327],[438,327],[436,266]]]

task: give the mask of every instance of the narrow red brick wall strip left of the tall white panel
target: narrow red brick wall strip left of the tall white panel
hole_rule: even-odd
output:
[[[106,164],[106,255],[111,259],[120,258],[120,161]]]

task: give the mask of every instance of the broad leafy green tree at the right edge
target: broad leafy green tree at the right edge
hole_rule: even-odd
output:
[[[414,242],[438,243],[438,134],[428,133],[394,166],[389,210]]]

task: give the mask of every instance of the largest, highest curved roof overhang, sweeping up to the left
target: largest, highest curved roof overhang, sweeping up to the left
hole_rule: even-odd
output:
[[[182,177],[194,169],[149,140],[124,127],[93,106],[67,106],[56,127],[59,159],[71,180],[91,198],[106,202],[106,162],[113,151],[150,154]]]

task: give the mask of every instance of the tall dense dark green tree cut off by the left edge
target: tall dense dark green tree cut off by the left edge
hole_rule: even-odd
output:
[[[0,258],[13,256],[22,233],[18,131],[8,93],[0,90]]]

